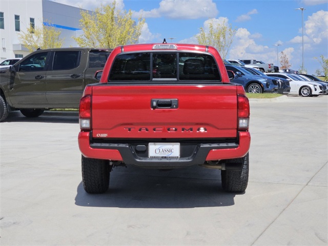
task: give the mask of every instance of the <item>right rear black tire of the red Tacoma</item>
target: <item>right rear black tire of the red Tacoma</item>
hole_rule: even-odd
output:
[[[242,162],[240,171],[221,170],[222,188],[227,192],[244,192],[248,185],[249,175],[249,153],[237,161]],[[236,159],[226,160],[236,162]]]

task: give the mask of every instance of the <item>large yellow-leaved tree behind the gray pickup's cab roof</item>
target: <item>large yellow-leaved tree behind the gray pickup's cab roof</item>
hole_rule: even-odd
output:
[[[132,19],[132,12],[120,11],[116,2],[101,4],[93,13],[80,10],[80,27],[84,34],[73,37],[81,47],[115,48],[120,45],[135,44],[141,34],[145,19]]]

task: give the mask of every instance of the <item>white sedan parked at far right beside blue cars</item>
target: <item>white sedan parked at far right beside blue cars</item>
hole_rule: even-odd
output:
[[[289,80],[291,87],[290,94],[297,94],[300,96],[317,96],[322,95],[322,85],[316,83],[315,81],[305,81],[294,76],[290,73],[269,73],[267,74],[271,77],[285,78]]]

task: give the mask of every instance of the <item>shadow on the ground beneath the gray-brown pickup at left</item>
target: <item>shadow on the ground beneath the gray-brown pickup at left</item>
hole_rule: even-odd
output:
[[[28,118],[20,113],[20,111],[13,111],[8,114],[8,117],[4,122],[46,122],[78,124],[78,112],[47,110],[36,118]]]

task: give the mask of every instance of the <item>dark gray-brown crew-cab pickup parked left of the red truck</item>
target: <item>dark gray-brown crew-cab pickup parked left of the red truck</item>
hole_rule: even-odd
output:
[[[0,70],[0,121],[20,110],[37,117],[45,109],[76,108],[94,74],[105,66],[110,49],[37,50],[10,68]]]

